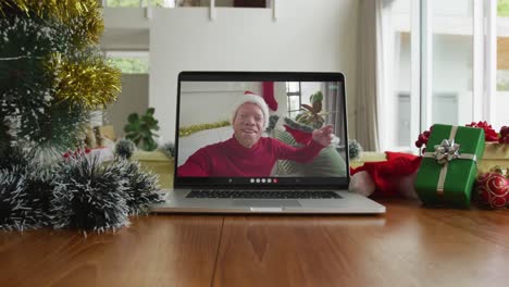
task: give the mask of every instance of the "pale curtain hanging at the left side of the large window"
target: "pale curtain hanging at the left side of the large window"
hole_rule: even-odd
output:
[[[356,137],[364,150],[380,150],[382,73],[382,7],[387,0],[360,0]]]

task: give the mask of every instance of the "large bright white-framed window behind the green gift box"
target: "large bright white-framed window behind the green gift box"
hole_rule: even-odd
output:
[[[509,0],[380,2],[382,150],[417,152],[435,123],[509,125]]]

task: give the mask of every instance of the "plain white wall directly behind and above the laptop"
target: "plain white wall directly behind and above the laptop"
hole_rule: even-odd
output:
[[[270,9],[154,9],[150,21],[150,96],[164,141],[173,141],[181,71],[343,72],[353,111],[357,0],[278,0]],[[350,130],[355,118],[350,118]]]

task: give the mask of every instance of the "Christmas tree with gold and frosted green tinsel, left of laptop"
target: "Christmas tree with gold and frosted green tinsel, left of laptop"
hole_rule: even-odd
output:
[[[158,199],[139,164],[84,149],[121,89],[102,30],[97,0],[0,0],[0,229],[115,229]]]

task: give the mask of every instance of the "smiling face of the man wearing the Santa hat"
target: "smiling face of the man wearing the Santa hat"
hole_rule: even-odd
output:
[[[251,148],[263,132],[263,112],[254,103],[246,102],[237,109],[233,124],[235,138],[246,147]]]

